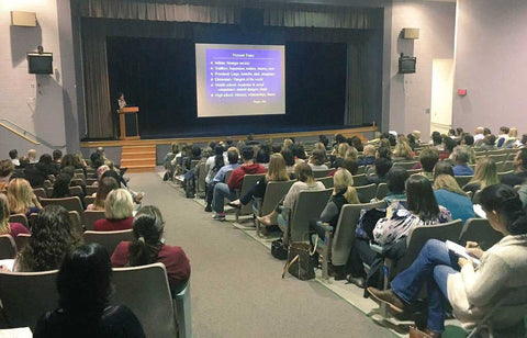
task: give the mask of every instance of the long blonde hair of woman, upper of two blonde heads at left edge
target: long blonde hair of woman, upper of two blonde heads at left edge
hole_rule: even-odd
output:
[[[8,201],[11,214],[37,213],[42,205],[33,193],[33,189],[24,179],[13,179],[8,184]]]

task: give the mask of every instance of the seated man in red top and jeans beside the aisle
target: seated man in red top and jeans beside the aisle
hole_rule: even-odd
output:
[[[242,160],[244,164],[242,167],[234,169],[227,183],[216,183],[214,185],[214,193],[212,196],[212,210],[214,214],[213,219],[224,221],[225,213],[223,212],[224,199],[234,201],[238,199],[236,189],[242,188],[244,182],[244,176],[247,173],[265,173],[266,168],[259,164],[255,164],[253,158],[255,157],[255,149],[250,146],[246,146],[242,149]],[[220,173],[220,172],[218,172]]]

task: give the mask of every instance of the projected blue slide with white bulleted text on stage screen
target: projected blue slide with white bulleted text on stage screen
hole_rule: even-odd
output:
[[[285,113],[284,47],[195,44],[198,117]]]

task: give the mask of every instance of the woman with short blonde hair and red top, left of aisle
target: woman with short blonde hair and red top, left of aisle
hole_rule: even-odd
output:
[[[94,232],[126,230],[133,227],[134,203],[132,196],[124,189],[112,190],[104,201],[105,218],[97,219],[93,224]]]

